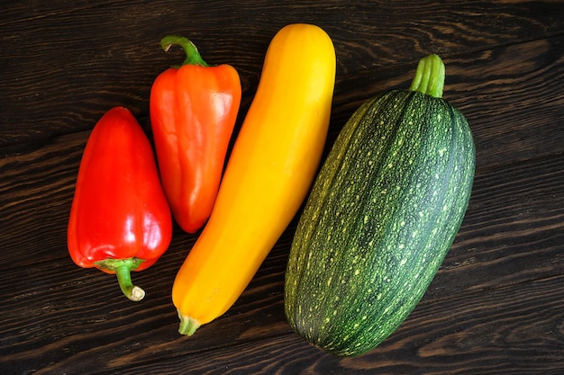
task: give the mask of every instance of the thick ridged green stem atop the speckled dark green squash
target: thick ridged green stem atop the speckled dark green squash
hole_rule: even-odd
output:
[[[441,98],[444,86],[444,71],[444,64],[437,55],[422,58],[417,65],[410,90]]]

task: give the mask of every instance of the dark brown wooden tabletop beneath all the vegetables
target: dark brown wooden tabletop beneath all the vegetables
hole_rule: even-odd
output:
[[[358,4],[355,4],[358,3]],[[564,373],[564,2],[5,1],[0,14],[2,374]],[[152,80],[180,33],[236,67],[241,115],[268,42],[292,22],[327,31],[337,58],[330,147],[368,97],[407,87],[419,58],[447,67],[444,97],[474,133],[468,212],[405,323],[355,359],[295,335],[283,281],[296,220],[241,299],[193,337],[177,333],[172,282],[197,235],[175,230],[134,273],[147,296],[77,267],[66,226],[86,139],[114,105],[150,134]]]

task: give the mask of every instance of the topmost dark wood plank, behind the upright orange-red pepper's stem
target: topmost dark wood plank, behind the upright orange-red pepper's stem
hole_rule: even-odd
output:
[[[0,69],[0,147],[32,147],[43,138],[90,129],[112,105],[147,118],[152,80],[178,58],[157,45],[170,32],[193,38],[209,61],[237,67],[247,105],[269,40],[289,22],[327,29],[337,49],[339,79],[357,74],[362,79],[363,71],[378,70],[372,82],[392,78],[391,67],[411,67],[430,52],[449,58],[564,30],[559,2],[413,2],[405,8],[403,2],[333,1],[319,7],[311,1],[259,6],[120,1],[78,3],[66,11],[67,2],[50,2],[29,15],[23,6],[30,4],[13,3],[0,39],[0,48],[10,51]],[[550,68],[541,58],[532,62],[537,70]],[[345,84],[339,94],[361,95],[368,88]]]

